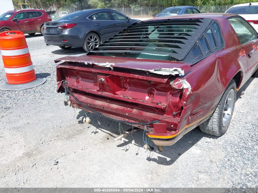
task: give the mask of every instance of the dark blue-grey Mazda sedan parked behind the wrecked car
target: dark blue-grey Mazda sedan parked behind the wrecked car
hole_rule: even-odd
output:
[[[112,9],[87,9],[45,23],[44,39],[47,45],[89,52],[137,21]]]

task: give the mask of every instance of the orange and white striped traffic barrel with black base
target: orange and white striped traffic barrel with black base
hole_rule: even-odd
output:
[[[37,78],[31,55],[20,31],[0,33],[0,50],[4,63],[6,82],[0,84],[1,90],[22,90],[43,84],[45,78]]]

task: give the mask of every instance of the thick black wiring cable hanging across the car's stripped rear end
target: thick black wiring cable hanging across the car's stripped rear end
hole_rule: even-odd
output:
[[[112,120],[112,121],[115,121],[115,122],[118,122],[118,123],[126,123],[126,124],[130,124],[130,125],[144,125],[144,126],[150,125],[150,124],[153,124],[153,123],[158,123],[158,121],[159,121],[159,120],[153,120],[153,121],[150,121],[150,122],[147,122],[147,123],[140,123],[140,122],[130,122],[130,121],[122,121],[122,120],[115,120],[115,119],[112,119],[112,118],[110,118],[110,117],[107,117],[107,116],[103,115],[102,113],[99,113],[99,112],[97,112],[97,111],[91,109],[90,107],[88,107],[88,106],[84,105],[82,102],[80,102],[80,101],[78,100],[78,98],[76,98],[76,96],[74,96],[74,94],[70,91],[70,89],[65,85],[64,82],[63,82],[63,86],[64,86],[65,93],[68,92],[68,93],[74,98],[74,100],[75,100],[76,102],[78,102],[79,104],[81,104],[84,108],[89,109],[91,112],[96,113],[96,114],[98,114],[99,116],[102,116],[102,117],[104,117],[104,118],[106,118],[106,119],[108,119],[108,120]]]

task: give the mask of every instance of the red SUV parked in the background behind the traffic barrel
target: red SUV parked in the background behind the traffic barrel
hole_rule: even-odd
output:
[[[0,16],[0,32],[21,31],[24,34],[43,34],[44,23],[52,21],[51,16],[40,9],[21,9],[8,11]]]

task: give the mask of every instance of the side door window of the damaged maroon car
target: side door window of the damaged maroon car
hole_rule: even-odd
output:
[[[231,17],[228,21],[238,35],[241,44],[257,39],[256,31],[245,20],[239,17]]]

